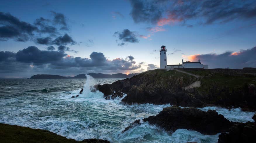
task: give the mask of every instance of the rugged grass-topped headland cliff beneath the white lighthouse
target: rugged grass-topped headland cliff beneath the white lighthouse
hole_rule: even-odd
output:
[[[170,103],[182,107],[222,106],[256,110],[256,70],[178,70],[180,72],[165,72],[162,69],[147,71],[111,85],[102,85],[104,90],[99,90],[103,93],[111,91],[105,96],[113,91],[126,93],[127,96],[122,99],[126,104]]]

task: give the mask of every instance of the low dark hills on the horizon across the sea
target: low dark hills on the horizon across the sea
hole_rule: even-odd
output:
[[[87,75],[92,76],[93,78],[131,78],[135,74],[101,74],[101,73],[89,73]],[[30,79],[67,79],[67,78],[86,78],[85,74],[79,74],[77,76],[60,76],[60,75],[51,75],[51,74],[36,74],[30,77]]]

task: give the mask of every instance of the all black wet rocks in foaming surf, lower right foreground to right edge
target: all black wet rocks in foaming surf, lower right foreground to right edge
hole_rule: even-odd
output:
[[[156,116],[142,119],[152,125],[164,128],[166,131],[175,132],[177,129],[198,131],[204,135],[219,135],[218,143],[251,142],[256,135],[256,114],[252,117],[254,122],[232,122],[218,114],[215,110],[201,111],[196,108],[181,108],[172,106],[164,108]],[[127,126],[122,133],[141,124],[135,120]]]

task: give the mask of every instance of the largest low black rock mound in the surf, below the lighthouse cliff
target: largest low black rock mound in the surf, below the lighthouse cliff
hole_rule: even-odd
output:
[[[198,131],[205,135],[216,135],[226,132],[233,125],[215,110],[207,112],[196,108],[180,108],[178,106],[164,108],[158,115],[143,119],[149,124],[156,124],[167,131],[179,128]]]

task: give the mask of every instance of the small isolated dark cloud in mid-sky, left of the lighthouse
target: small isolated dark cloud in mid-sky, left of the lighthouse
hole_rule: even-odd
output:
[[[124,45],[124,42],[130,42],[130,43],[138,43],[139,40],[135,34],[135,32],[129,31],[128,29],[124,29],[123,31],[119,32],[115,32],[114,33],[115,36],[118,37],[119,40],[121,40],[121,44],[119,44],[119,46]]]

